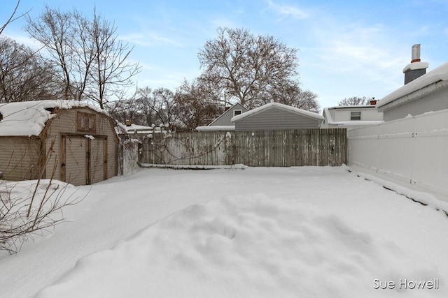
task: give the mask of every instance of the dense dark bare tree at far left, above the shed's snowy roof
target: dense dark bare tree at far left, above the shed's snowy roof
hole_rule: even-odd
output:
[[[54,75],[40,54],[0,38],[0,103],[55,98]]]

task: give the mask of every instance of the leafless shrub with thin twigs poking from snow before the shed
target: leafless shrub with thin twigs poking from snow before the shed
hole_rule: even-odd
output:
[[[0,182],[0,251],[18,253],[22,244],[64,221],[62,209],[83,198],[71,185],[51,179]]]

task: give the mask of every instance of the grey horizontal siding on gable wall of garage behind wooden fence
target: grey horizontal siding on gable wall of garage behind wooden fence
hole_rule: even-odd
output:
[[[318,128],[320,123],[321,120],[274,107],[235,121],[235,131]]]

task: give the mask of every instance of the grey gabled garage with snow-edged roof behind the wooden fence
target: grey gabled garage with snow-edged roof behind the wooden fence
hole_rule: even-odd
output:
[[[281,103],[268,103],[233,117],[235,131],[319,128],[323,117]]]

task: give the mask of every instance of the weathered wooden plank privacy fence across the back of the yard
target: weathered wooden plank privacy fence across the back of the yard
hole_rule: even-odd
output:
[[[157,133],[141,142],[139,163],[290,167],[346,163],[346,129]]]

